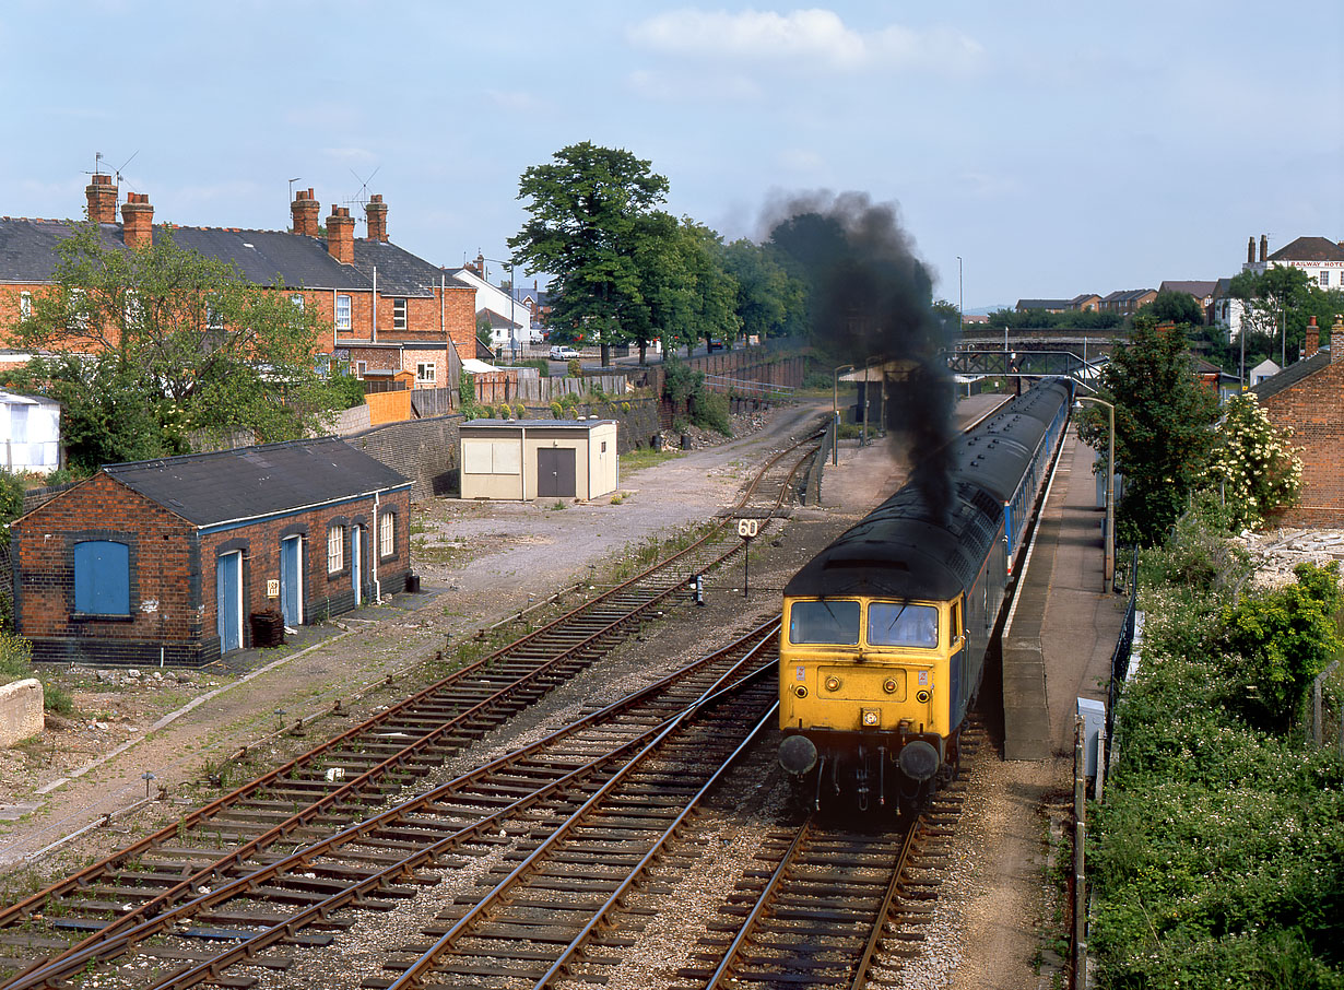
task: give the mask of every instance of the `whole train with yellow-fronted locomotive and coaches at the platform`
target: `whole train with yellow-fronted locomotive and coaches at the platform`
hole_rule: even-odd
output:
[[[1073,404],[1047,379],[952,441],[946,505],[910,482],[784,588],[780,764],[813,807],[907,809],[950,779]]]

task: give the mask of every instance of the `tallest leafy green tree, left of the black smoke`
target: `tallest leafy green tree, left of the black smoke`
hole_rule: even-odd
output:
[[[632,339],[626,325],[648,318],[638,257],[650,238],[665,236],[655,212],[668,191],[650,164],[585,141],[519,181],[530,219],[509,238],[513,261],[551,274],[551,325],[562,337],[597,340],[602,364],[612,344]]]

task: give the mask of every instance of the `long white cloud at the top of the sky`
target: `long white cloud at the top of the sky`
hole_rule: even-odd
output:
[[[894,24],[862,32],[820,8],[789,13],[683,8],[649,17],[626,34],[633,44],[669,55],[844,71],[939,66],[965,71],[984,54],[978,42],[952,28]]]

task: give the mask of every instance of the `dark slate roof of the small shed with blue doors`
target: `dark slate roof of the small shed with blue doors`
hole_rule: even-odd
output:
[[[274,516],[411,484],[336,437],[114,463],[102,470],[198,527]]]

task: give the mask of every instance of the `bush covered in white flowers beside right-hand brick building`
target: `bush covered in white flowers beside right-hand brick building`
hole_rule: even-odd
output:
[[[1253,394],[1228,400],[1204,481],[1220,494],[1234,528],[1255,529],[1275,509],[1297,502],[1302,459],[1292,435],[1269,420]]]

